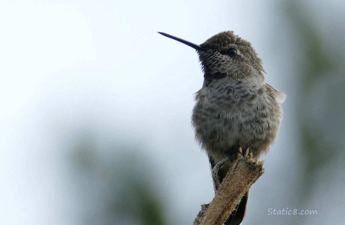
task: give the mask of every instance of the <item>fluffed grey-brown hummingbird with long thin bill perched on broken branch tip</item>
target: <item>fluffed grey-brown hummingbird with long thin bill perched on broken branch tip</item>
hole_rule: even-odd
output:
[[[252,44],[235,35],[220,32],[201,45],[158,32],[196,50],[204,81],[195,93],[191,116],[195,137],[206,151],[211,170],[229,156],[245,149],[254,159],[267,154],[283,118],[281,103],[286,95],[265,82],[262,60]],[[218,170],[218,182],[226,176],[230,162]],[[214,189],[217,192],[215,178]],[[249,190],[224,225],[241,224]]]

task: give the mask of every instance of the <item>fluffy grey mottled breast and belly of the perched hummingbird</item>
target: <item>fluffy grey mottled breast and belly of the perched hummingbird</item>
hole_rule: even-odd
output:
[[[270,115],[277,103],[270,102],[261,88],[213,80],[197,92],[192,124],[197,141],[209,155],[222,158],[238,145],[251,148],[253,154],[268,150],[281,118]]]

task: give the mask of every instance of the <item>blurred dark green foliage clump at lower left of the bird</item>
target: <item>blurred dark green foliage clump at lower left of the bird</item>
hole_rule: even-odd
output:
[[[166,224],[159,176],[138,148],[104,149],[86,135],[72,152],[82,224]]]

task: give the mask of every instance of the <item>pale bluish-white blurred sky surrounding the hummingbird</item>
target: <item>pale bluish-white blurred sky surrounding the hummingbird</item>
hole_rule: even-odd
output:
[[[332,21],[344,21],[344,1],[304,2],[306,13],[319,14],[315,19],[325,32]],[[268,208],[295,208],[289,196],[298,191],[298,171],[287,165],[298,145],[298,84],[290,61],[298,49],[282,14],[273,0],[2,1],[0,224],[80,223],[66,162],[73,137],[84,129],[100,146],[144,149],[164,175],[168,216],[179,223],[191,224],[199,205],[213,198],[208,160],[190,125],[193,94],[203,82],[197,54],[156,31],[202,43],[234,30],[252,42],[266,82],[287,100],[245,224],[266,218]],[[331,192],[341,190],[335,185]],[[325,202],[333,197],[320,194],[307,205],[319,212],[311,221],[332,224],[335,210]],[[345,197],[336,198],[343,205]],[[332,219],[342,221],[342,211]]]

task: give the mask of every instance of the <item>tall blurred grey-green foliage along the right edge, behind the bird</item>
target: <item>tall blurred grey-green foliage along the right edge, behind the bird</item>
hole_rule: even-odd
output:
[[[308,7],[311,2],[285,1],[286,19],[291,23],[292,56],[297,83],[295,86],[296,123],[300,135],[301,202],[313,195],[320,179],[320,171],[332,171],[332,165],[344,157],[345,79],[344,37],[334,29],[343,30],[341,21],[325,27],[317,23],[319,14]],[[326,33],[326,32],[330,33]],[[332,32],[333,31],[333,32]],[[344,168],[344,167],[343,167]],[[323,177],[327,180],[331,176]]]

